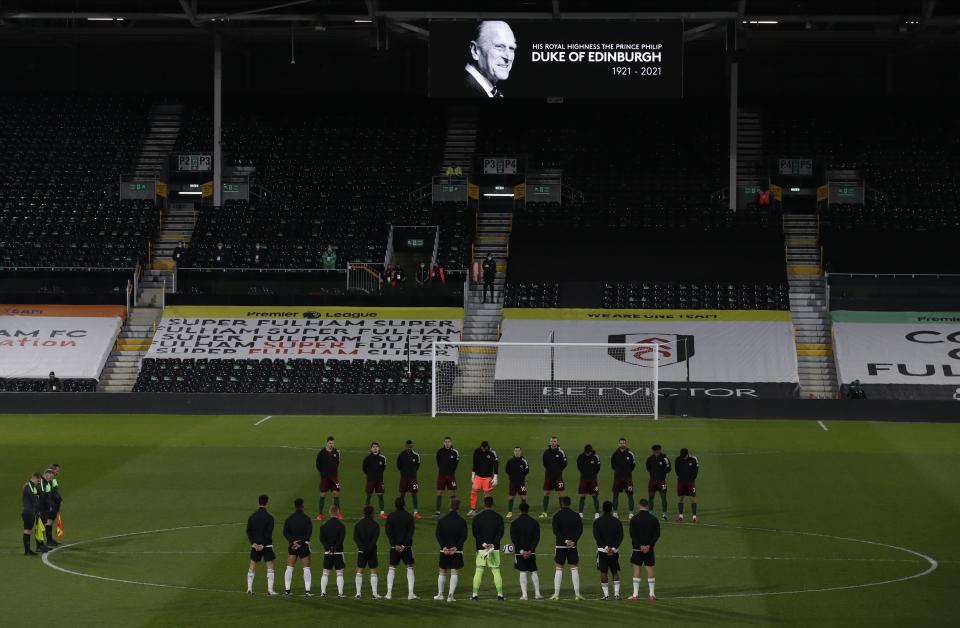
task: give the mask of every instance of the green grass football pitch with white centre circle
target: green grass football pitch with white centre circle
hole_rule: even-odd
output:
[[[827,422],[823,429],[816,421],[419,416],[275,416],[255,425],[262,418],[0,415],[0,478],[8,496],[0,528],[0,625],[960,625],[960,425]],[[414,440],[424,456],[420,481],[428,489],[421,510],[432,514],[433,454],[446,434],[466,459],[458,474],[464,486],[471,452],[482,439],[502,461],[521,445],[533,467],[528,486],[534,489],[542,481],[540,454],[551,434],[560,437],[571,461],[590,442],[604,460],[603,498],[619,436],[641,457],[655,442],[671,458],[689,447],[702,464],[700,524],[663,526],[657,602],[598,600],[588,550],[581,562],[586,601],[571,599],[565,574],[561,601],[520,602],[516,572],[505,557],[507,602],[495,600],[489,574],[481,601],[471,602],[472,549],[458,602],[435,602],[430,516],[417,525],[419,600],[354,600],[354,555],[347,557],[349,599],[268,598],[262,567],[260,594],[244,595],[248,546],[242,523],[256,496],[269,493],[277,518],[280,590],[282,521],[298,496],[315,514],[314,458],[328,434],[343,452],[348,550],[363,503],[360,461],[370,441],[380,441],[389,457],[391,500],[395,456],[406,438]],[[81,543],[55,551],[50,562],[96,577],[63,573],[22,556],[19,489],[31,471],[52,462],[63,465],[64,542]],[[574,488],[576,478],[569,469],[565,479]],[[645,475],[635,479],[642,492]],[[674,487],[671,482],[671,492]],[[467,493],[460,495],[465,499]],[[494,496],[505,510],[505,481]],[[539,513],[540,492],[532,490],[530,501]],[[555,497],[551,505],[556,507]],[[592,516],[589,502],[588,512]],[[670,513],[676,515],[672,495]],[[543,538],[552,545],[547,530]],[[591,542],[585,534],[582,546]],[[381,594],[385,546],[382,541]],[[540,559],[548,595],[551,562]],[[315,593],[319,581],[315,565]],[[294,587],[302,591],[299,567]],[[335,591],[333,582],[330,587]],[[628,576],[624,597],[630,588]],[[405,590],[400,570],[396,591]]]

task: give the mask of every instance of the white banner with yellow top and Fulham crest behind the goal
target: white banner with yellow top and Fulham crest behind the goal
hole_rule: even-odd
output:
[[[498,382],[547,382],[544,395],[553,397],[630,396],[649,385],[656,362],[661,396],[775,398],[799,392],[789,312],[504,310],[503,342],[547,342],[551,334],[556,343],[626,346],[558,347],[522,362],[498,360]]]

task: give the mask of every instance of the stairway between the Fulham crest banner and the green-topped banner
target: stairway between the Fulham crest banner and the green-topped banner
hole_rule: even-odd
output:
[[[818,218],[813,214],[783,216],[800,396],[834,399],[838,394],[837,370],[818,225]]]

